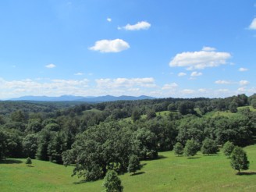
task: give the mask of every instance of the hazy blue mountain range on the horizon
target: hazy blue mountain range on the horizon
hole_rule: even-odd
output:
[[[84,102],[106,102],[106,101],[134,101],[142,99],[154,99],[145,95],[139,97],[122,95],[119,97],[112,95],[105,95],[99,97],[82,97],[74,95],[62,95],[60,97],[48,97],[48,96],[23,96],[20,98],[12,98],[10,101],[84,101]]]

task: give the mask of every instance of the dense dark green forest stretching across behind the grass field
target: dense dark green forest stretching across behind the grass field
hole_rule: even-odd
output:
[[[30,103],[26,103],[19,108],[12,103],[8,113],[0,111],[0,159],[30,157],[73,164],[73,175],[98,180],[108,170],[129,171],[136,158],[158,158],[158,151],[172,150],[178,143],[192,143],[195,150],[203,148],[206,154],[212,153],[209,145],[226,141],[238,146],[252,144],[256,113],[249,108],[237,111],[237,107],[256,108],[255,102],[255,94],[240,94],[218,99],[161,98],[71,107],[55,103],[43,108],[41,103],[27,107]],[[8,108],[5,102],[4,106],[1,108]],[[223,111],[232,113],[222,116]]]

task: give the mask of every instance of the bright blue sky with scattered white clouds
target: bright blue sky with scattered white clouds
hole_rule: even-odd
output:
[[[256,1],[0,2],[0,99],[256,92]]]

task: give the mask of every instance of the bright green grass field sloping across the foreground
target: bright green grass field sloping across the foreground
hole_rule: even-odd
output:
[[[119,176],[124,191],[256,191],[256,145],[245,148],[250,169],[236,175],[229,158],[201,153],[188,159],[176,157],[172,151],[159,153],[160,158],[144,161],[135,176]],[[71,177],[73,167],[25,159],[0,162],[0,191],[101,191],[102,180],[84,183]]]

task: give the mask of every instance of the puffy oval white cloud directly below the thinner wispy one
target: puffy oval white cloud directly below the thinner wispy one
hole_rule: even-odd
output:
[[[122,39],[96,41],[94,46],[89,48],[98,52],[122,52],[130,48],[130,45]]]

